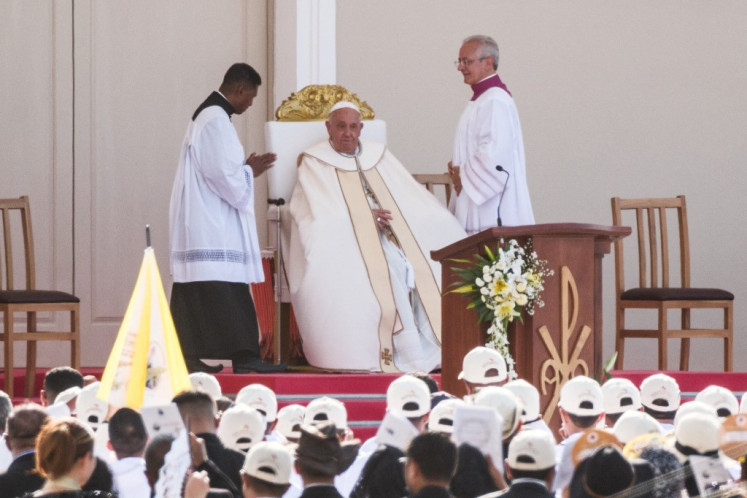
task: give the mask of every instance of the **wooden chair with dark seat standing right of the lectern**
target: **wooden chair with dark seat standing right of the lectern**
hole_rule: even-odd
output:
[[[622,226],[623,211],[635,213],[634,232],[637,232],[638,282],[633,288],[625,287],[625,257],[623,240],[615,242],[615,286],[617,301],[617,368],[623,368],[625,339],[628,337],[653,338],[659,343],[659,370],[667,367],[667,339],[682,340],[680,369],[687,370],[690,357],[690,339],[712,337],[724,340],[724,370],[732,371],[732,335],[734,295],[721,289],[694,288],[690,286],[690,246],[687,232],[685,196],[670,199],[612,199],[612,223]],[[679,231],[677,248],[670,252],[667,213],[676,220]],[[672,238],[672,240],[676,240]],[[670,256],[672,256],[670,258]],[[676,267],[679,261],[679,282]],[[670,265],[670,262],[672,264]],[[628,329],[625,311],[628,309],[653,309],[658,313],[656,329]],[[723,328],[691,328],[690,311],[693,309],[720,309],[724,313]],[[680,329],[671,329],[667,323],[669,310],[680,310]]]

